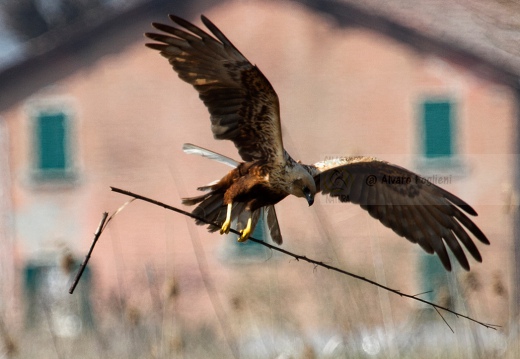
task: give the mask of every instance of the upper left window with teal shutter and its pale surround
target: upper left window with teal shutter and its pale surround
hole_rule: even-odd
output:
[[[31,180],[70,182],[75,179],[73,117],[70,105],[61,99],[31,101]]]

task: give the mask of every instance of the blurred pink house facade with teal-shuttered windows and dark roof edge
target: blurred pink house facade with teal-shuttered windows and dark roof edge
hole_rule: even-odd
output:
[[[237,158],[232,144],[213,140],[196,92],[144,47],[152,21],[167,22],[170,12],[200,24],[203,12],[276,89],[284,145],[295,158],[365,154],[415,170],[470,203],[492,242],[477,244],[484,263],[470,261],[470,274],[435,275],[435,257],[361,209],[323,197],[310,210],[295,198],[277,206],[284,248],[406,293],[455,281],[455,293],[431,298],[463,298],[458,308],[471,316],[511,324],[514,64],[428,31],[425,18],[401,22],[399,12],[374,15],[356,1],[187,4],[139,5],[0,74],[0,303],[8,322],[45,318],[31,312],[42,293],[58,303],[51,320],[63,336],[94,325],[92,311],[143,314],[168,300],[172,318],[186,323],[218,317],[217,300],[238,318],[235,331],[287,323],[293,331],[353,331],[360,321],[390,331],[417,309],[275,253],[242,260],[234,238],[138,202],[110,223],[71,304],[74,262],[101,214],[128,199],[109,186],[179,205],[227,170],[185,155],[183,143]],[[352,308],[367,314],[357,318]]]

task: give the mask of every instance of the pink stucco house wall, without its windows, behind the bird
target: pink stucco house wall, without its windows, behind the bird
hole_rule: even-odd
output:
[[[492,242],[490,247],[479,245],[483,264],[471,262],[484,283],[480,298],[489,303],[480,319],[506,324],[507,298],[494,294],[493,283],[502,278],[508,286],[510,278],[507,206],[513,181],[510,169],[517,161],[512,143],[516,109],[510,90],[441,58],[417,54],[382,34],[339,28],[289,4],[231,2],[205,15],[271,81],[280,97],[284,144],[303,162],[367,154],[415,169],[421,152],[420,101],[428,96],[454,100],[463,168],[455,170],[454,181],[446,188],[474,205],[479,212],[476,223]],[[125,31],[149,30],[136,26]],[[116,40],[100,40],[96,46]],[[196,92],[177,78],[165,59],[145,48],[145,41],[99,58],[34,94],[39,100],[65,98],[73,109],[79,169],[73,187],[42,189],[27,182],[31,155],[27,104],[2,114],[11,136],[20,266],[27,258],[57,253],[63,246],[83,257],[101,213],[115,211],[127,200],[111,193],[109,186],[181,206],[181,197],[195,194],[198,185],[225,173],[227,168],[220,164],[183,154],[185,142],[237,158],[231,143],[213,140],[208,114]],[[288,198],[277,211],[285,249],[417,292],[419,249],[361,209],[325,199],[309,209],[304,201]],[[41,216],[47,225],[53,221],[52,229],[36,220]],[[177,309],[186,318],[213,316],[193,245],[199,240],[217,295],[229,310],[232,299],[241,297],[251,303],[253,317],[262,317],[260,301],[273,317],[290,307],[284,315],[291,320],[326,326],[327,318],[334,318],[329,303],[335,312],[346,311],[349,305],[367,311],[372,305],[362,299],[365,295],[388,300],[389,306],[383,308],[390,308],[391,317],[403,318],[415,308],[413,302],[387,298],[368,285],[287,257],[273,254],[254,265],[231,265],[221,260],[224,237],[138,202],[113,220],[94,252],[94,301],[103,308],[112,295],[121,295],[146,311],[152,305],[152,271],[157,280],[153,285],[162,288],[172,277],[179,283]],[[362,297],[348,294],[352,288],[360,288],[356,293]],[[381,315],[376,310],[366,320],[381,322]]]

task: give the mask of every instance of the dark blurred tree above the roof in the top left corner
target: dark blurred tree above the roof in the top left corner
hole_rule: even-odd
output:
[[[0,10],[9,29],[28,40],[73,23],[101,6],[103,0],[4,0]]]

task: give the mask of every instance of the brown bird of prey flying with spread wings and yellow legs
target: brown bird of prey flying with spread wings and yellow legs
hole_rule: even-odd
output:
[[[470,205],[405,168],[375,158],[345,157],[313,165],[295,161],[283,147],[278,96],[258,67],[206,17],[201,16],[202,22],[213,36],[177,16],[170,19],[177,26],[152,24],[162,33],[146,33],[155,41],[146,46],[158,50],[193,85],[210,113],[213,136],[233,141],[243,160],[184,146],[188,153],[234,167],[219,181],[199,187],[202,195],[183,199],[186,205],[197,204],[193,214],[219,225],[209,225],[210,231],[228,233],[237,220],[239,241],[245,241],[265,212],[271,237],[281,244],[274,205],[294,195],[311,206],[321,192],[360,205],[399,236],[436,253],[447,270],[446,245],[466,270],[470,266],[461,244],[482,261],[468,232],[482,243],[489,241],[464,214],[477,215]]]

